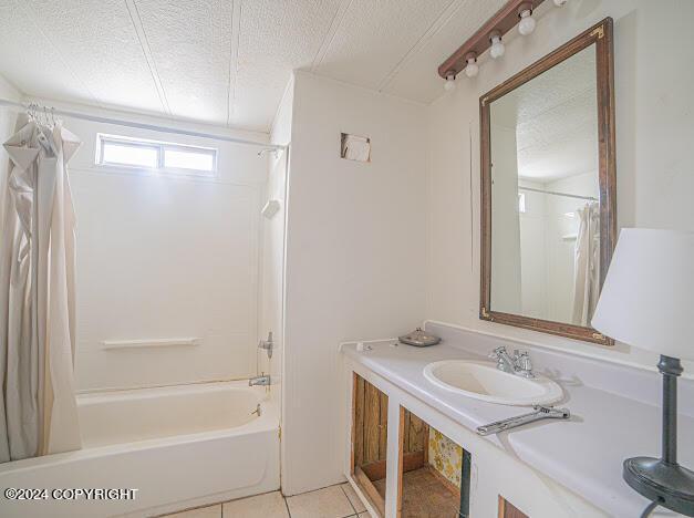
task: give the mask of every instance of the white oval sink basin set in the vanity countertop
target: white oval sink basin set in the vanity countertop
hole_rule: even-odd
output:
[[[561,387],[548,377],[520,377],[489,362],[434,362],[424,367],[424,377],[447,391],[501,405],[548,405],[563,396]]]

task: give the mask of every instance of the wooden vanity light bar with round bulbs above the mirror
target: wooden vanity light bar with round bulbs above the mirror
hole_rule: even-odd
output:
[[[504,34],[514,27],[522,22],[522,34],[529,34],[535,28],[532,11],[545,0],[510,0],[497,11],[489,20],[481,25],[473,37],[438,66],[438,75],[446,80],[446,90],[453,90],[453,81],[457,74],[466,70],[469,63],[475,63],[476,59],[490,46],[495,45],[494,58],[500,58],[504,53],[501,39]],[[557,7],[561,7],[567,0],[555,0]],[[532,27],[530,27],[532,25]],[[519,25],[520,29],[520,25]],[[470,60],[470,56],[474,60]],[[477,64],[474,65],[475,69]],[[477,70],[466,73],[468,77],[477,75]]]

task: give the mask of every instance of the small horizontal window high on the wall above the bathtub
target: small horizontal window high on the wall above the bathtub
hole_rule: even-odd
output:
[[[215,176],[217,149],[100,134],[96,164],[160,174]]]

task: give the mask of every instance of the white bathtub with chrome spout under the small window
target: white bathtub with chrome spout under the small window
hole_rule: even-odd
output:
[[[222,382],[79,395],[83,448],[0,464],[0,516],[156,516],[279,489],[275,392]],[[48,491],[8,500],[7,488]],[[124,490],[70,491],[85,488]]]

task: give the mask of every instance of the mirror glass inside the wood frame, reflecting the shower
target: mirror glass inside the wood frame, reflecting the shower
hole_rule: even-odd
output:
[[[600,291],[595,45],[491,102],[491,304],[588,325]]]

